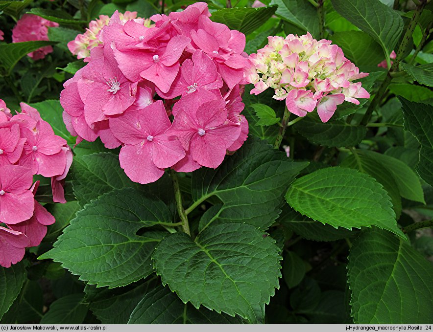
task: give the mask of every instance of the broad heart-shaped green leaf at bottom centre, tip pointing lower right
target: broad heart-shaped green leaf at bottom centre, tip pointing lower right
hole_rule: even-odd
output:
[[[207,228],[195,242],[186,233],[170,234],[152,259],[163,285],[184,303],[257,323],[279,287],[278,251],[275,241],[257,227],[233,222]]]

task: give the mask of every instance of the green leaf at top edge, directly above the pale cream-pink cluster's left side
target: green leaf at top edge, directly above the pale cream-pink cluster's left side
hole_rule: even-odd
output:
[[[222,8],[213,12],[211,19],[247,35],[263,25],[276,10],[277,6]]]

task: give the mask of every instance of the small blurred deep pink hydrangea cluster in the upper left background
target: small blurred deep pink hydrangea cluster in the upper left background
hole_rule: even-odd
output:
[[[48,21],[37,15],[24,14],[12,29],[12,43],[48,41],[48,27],[50,26],[59,26],[59,23]],[[39,60],[51,52],[51,46],[44,46],[27,55],[33,60]]]

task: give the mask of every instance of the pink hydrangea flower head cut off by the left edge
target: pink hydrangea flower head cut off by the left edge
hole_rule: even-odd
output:
[[[33,107],[12,114],[0,99],[0,266],[10,267],[37,246],[54,217],[35,199],[39,181],[51,178],[53,201],[65,203],[63,181],[72,164],[67,142]]]

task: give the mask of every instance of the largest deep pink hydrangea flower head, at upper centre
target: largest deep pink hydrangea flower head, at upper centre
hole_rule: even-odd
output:
[[[210,16],[204,2],[154,15],[153,25],[115,12],[60,96],[77,143],[121,146],[121,168],[143,184],[168,168],[217,168],[239,149],[248,135],[245,36]]]

